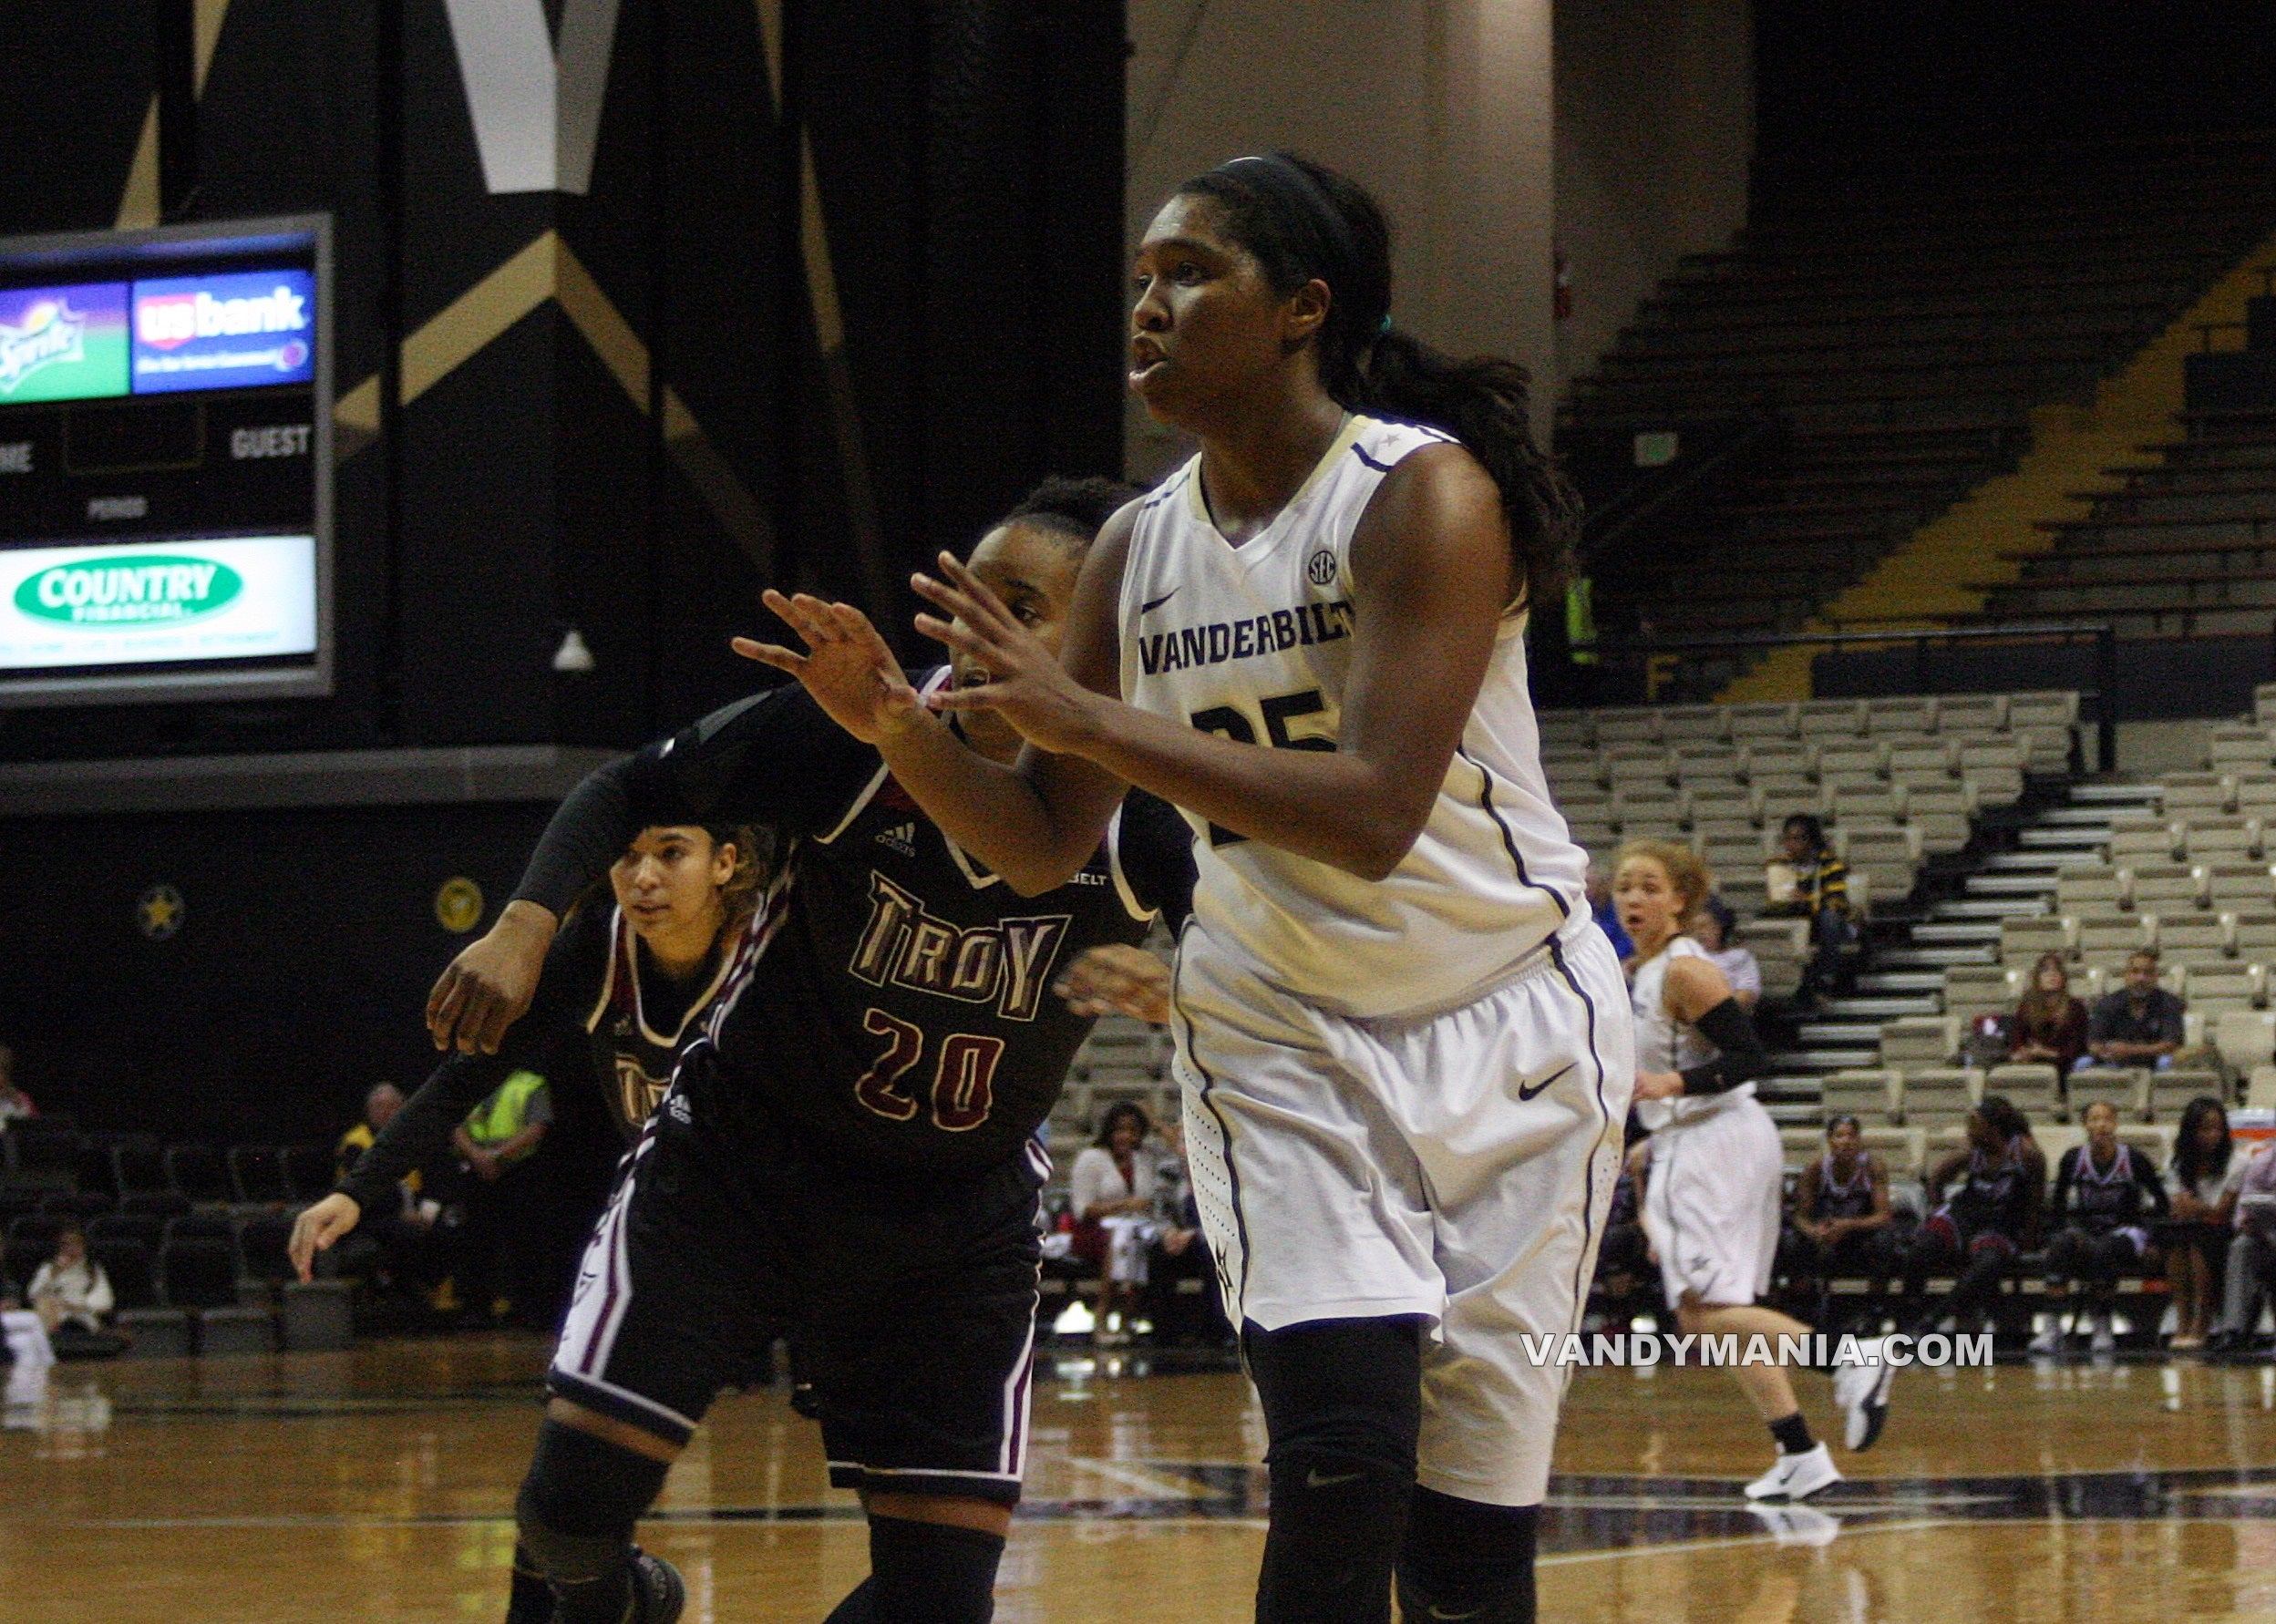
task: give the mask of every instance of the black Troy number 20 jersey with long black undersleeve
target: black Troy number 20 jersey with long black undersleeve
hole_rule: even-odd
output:
[[[1131,794],[1081,873],[1020,896],[797,685],[619,769],[564,803],[519,896],[553,908],[644,826],[765,823],[778,867],[706,1019],[703,1087],[860,1165],[1017,1155],[1090,1030],[1052,983],[1145,939],[1156,912],[1184,917],[1193,889],[1184,819]]]

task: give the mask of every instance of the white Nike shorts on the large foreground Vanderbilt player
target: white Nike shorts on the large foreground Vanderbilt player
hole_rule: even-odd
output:
[[[1605,935],[1577,921],[1454,1010],[1347,1019],[1188,928],[1172,1028],[1234,1324],[1427,1315],[1420,1481],[1539,1503],[1566,1372],[1518,1337],[1580,1328],[1636,1083]]]

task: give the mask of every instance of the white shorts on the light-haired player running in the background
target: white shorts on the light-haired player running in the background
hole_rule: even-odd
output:
[[[1652,1135],[1643,1233],[1668,1308],[1684,1292],[1709,1308],[1746,1308],[1768,1290],[1782,1185],[1778,1124],[1753,1094]]]

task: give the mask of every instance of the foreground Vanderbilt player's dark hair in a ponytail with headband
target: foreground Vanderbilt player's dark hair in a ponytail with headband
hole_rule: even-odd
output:
[[[1391,325],[1391,223],[1375,198],[1293,152],[1234,159],[1177,191],[1220,207],[1224,234],[1256,257],[1275,293],[1327,282],[1327,321],[1313,339],[1320,384],[1347,412],[1459,439],[1502,494],[1516,603],[1552,600],[1580,503],[1534,446],[1525,368],[1498,355],[1454,359]]]

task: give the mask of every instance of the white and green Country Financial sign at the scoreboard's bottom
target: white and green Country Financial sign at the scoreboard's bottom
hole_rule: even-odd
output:
[[[316,537],[0,550],[0,671],[316,651]]]

